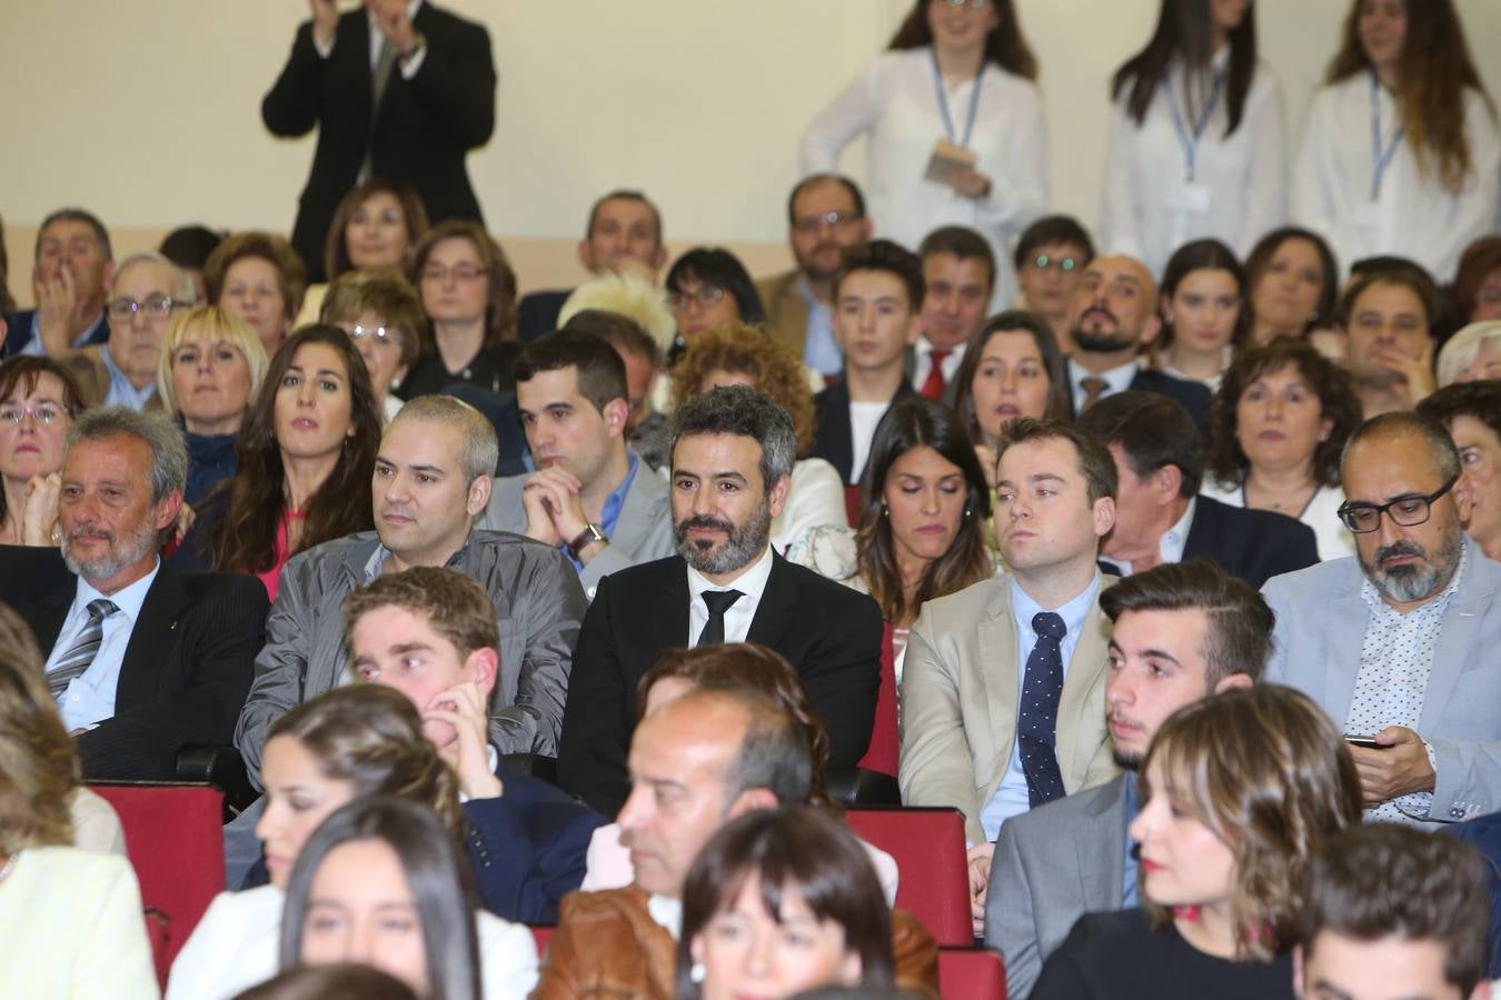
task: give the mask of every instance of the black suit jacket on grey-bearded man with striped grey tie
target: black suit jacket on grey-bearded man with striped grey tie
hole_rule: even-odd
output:
[[[44,652],[57,645],[77,580],[57,549],[0,547],[0,600],[26,618]],[[183,747],[228,745],[269,610],[252,576],[164,564],[125,648],[114,717],[77,741],[84,778],[167,780]]]

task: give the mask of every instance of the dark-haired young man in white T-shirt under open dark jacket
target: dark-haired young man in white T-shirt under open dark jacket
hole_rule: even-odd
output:
[[[814,396],[812,454],[835,466],[847,486],[860,481],[881,417],[913,394],[907,351],[922,330],[923,289],[923,262],[890,240],[844,252],[833,292],[844,370]]]

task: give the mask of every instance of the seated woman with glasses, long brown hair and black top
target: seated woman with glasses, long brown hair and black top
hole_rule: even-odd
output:
[[[465,384],[501,393],[516,387],[516,273],[477,222],[450,219],[428,229],[413,262],[434,349],[411,366],[402,399]]]

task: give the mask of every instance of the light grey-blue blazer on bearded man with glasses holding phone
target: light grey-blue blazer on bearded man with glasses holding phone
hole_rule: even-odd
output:
[[[1444,612],[1417,732],[1435,751],[1432,823],[1501,810],[1501,562],[1465,540],[1468,565]],[[1354,556],[1273,577],[1277,615],[1267,679],[1291,685],[1343,726],[1370,609]]]

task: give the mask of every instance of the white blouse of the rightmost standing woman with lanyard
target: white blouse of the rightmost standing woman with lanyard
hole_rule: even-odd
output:
[[[1405,138],[1396,144],[1372,199],[1378,150],[1372,124],[1381,120],[1381,153],[1391,148],[1397,105],[1369,73],[1324,87],[1313,96],[1303,148],[1292,181],[1292,216],[1322,234],[1343,273],[1361,258],[1400,253],[1447,283],[1459,255],[1486,235],[1496,217],[1501,190],[1501,136],[1490,109],[1475,90],[1465,91],[1465,136],[1472,172],[1454,195],[1444,189],[1436,165],[1426,174]],[[1373,114],[1375,108],[1375,114]],[[1424,157],[1430,160],[1432,157]]]

